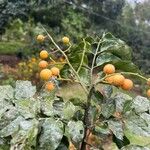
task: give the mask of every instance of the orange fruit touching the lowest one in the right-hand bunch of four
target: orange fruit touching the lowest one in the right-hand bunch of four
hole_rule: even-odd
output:
[[[125,78],[124,78],[123,75],[121,75],[121,74],[116,74],[116,75],[114,75],[114,77],[113,77],[113,84],[114,84],[114,85],[117,85],[117,86],[120,86],[120,85],[122,85],[122,84],[124,83],[124,80],[125,80]]]

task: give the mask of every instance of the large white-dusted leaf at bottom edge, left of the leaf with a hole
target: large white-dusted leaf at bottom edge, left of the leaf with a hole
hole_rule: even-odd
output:
[[[42,123],[39,137],[39,150],[55,150],[63,137],[63,123],[53,118],[47,118]]]

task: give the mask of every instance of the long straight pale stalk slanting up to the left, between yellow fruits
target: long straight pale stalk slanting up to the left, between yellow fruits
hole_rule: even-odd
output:
[[[67,55],[65,54],[65,52],[55,43],[55,41],[53,40],[53,38],[51,37],[51,35],[47,32],[47,30],[42,26],[42,28],[44,29],[44,31],[47,33],[48,37],[50,38],[50,40],[52,41],[52,43],[56,46],[56,48],[62,53],[62,55],[65,57],[67,64],[69,65],[69,67],[72,69],[73,73],[75,74],[75,76],[77,77],[77,79],[79,80],[80,85],[82,86],[82,88],[84,89],[85,93],[88,94],[88,90],[86,89],[85,85],[82,83],[80,76],[78,75],[78,73],[75,71],[75,69],[73,68],[73,66],[71,65],[71,63],[69,62],[69,59],[67,57]]]

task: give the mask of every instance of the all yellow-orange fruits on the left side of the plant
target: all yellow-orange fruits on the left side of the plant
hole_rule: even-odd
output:
[[[37,41],[44,42],[45,38],[46,36],[38,35]],[[69,38],[63,37],[62,42],[64,44],[69,44]],[[55,66],[49,69],[48,62],[46,61],[48,57],[49,57],[49,53],[46,50],[42,50],[40,52],[40,58],[41,58],[41,61],[39,62],[39,68],[41,69],[40,78],[44,81],[47,81],[45,84],[45,89],[48,91],[52,91],[55,89],[55,83],[53,78],[57,78],[59,76],[60,70]]]

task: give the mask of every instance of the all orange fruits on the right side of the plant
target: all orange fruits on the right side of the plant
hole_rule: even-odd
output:
[[[133,81],[126,79],[121,73],[115,73],[115,66],[112,64],[106,64],[103,68],[103,72],[107,75],[105,81],[109,84],[121,87],[123,90],[131,90],[134,86]],[[150,86],[150,79],[148,79],[147,85]],[[146,92],[150,97],[150,89]]]

